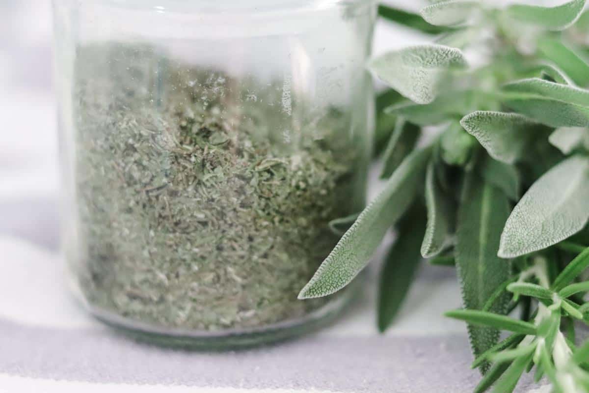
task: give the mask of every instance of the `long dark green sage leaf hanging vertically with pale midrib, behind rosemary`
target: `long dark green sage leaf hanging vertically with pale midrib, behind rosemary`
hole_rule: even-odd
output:
[[[458,210],[455,252],[462,300],[468,311],[483,309],[495,289],[509,279],[510,263],[497,256],[508,216],[505,194],[479,179],[474,171],[467,174]],[[503,296],[489,311],[505,313],[508,302],[509,296]],[[471,324],[468,331],[475,356],[497,344],[497,329]]]

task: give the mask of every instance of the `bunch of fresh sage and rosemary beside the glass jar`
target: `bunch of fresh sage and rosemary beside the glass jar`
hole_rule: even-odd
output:
[[[332,223],[348,230],[299,298],[348,285],[395,226],[381,331],[422,257],[456,266],[464,309],[448,316],[468,323],[473,366],[484,374],[476,392],[511,392],[533,366],[555,392],[589,392],[589,341],[575,340],[589,323],[584,7],[432,1],[424,21],[380,6],[384,18],[439,36],[371,62],[394,89],[377,105],[386,186],[358,216]],[[516,308],[521,318],[507,316]],[[499,342],[501,331],[513,335]]]

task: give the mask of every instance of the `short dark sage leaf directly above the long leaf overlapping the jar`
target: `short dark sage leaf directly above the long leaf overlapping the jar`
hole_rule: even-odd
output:
[[[388,179],[395,172],[405,157],[413,151],[420,136],[421,128],[402,118],[398,119],[395,131],[393,131],[385,150],[385,163],[382,173],[380,173],[381,179]]]

